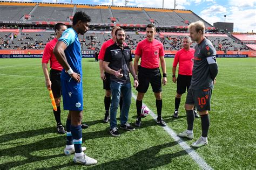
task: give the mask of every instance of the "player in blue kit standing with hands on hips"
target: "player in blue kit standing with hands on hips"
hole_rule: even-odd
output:
[[[83,117],[83,86],[82,86],[82,54],[78,34],[89,30],[91,18],[84,12],[76,12],[73,16],[72,27],[63,32],[53,53],[60,65],[63,66],[60,75],[62,83],[63,108],[69,110],[66,120],[66,147],[64,153],[75,152],[73,161],[84,165],[97,164],[97,160],[84,154],[82,147]]]

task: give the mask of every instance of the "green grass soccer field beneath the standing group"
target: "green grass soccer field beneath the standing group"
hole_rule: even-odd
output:
[[[169,128],[147,116],[142,128],[120,130],[120,137],[112,137],[109,124],[102,123],[105,91],[99,63],[83,59],[83,122],[90,126],[83,130],[83,146],[89,157],[98,160],[95,166],[84,166],[73,163],[73,155],[63,153],[65,134],[56,133],[41,59],[1,59],[0,169],[255,169],[256,58],[217,58],[219,74],[212,95],[208,145],[197,149],[190,145],[201,135],[200,118],[194,122],[194,139],[179,140],[176,136],[186,129],[186,95],[181,98],[180,117],[173,119],[176,84],[171,78],[172,61],[166,58],[169,77],[163,87],[162,115]],[[134,88],[132,91],[136,95]],[[132,125],[135,102],[133,98]],[[157,112],[151,88],[143,103]],[[62,110],[63,124],[67,114]]]

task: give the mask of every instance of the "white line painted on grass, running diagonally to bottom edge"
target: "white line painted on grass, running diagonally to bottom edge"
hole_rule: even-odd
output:
[[[136,100],[137,96],[132,93],[132,97],[134,100]],[[144,103],[143,103],[144,104]],[[145,105],[145,104],[144,104]],[[149,108],[149,107],[147,107]],[[150,116],[152,116],[154,119],[157,119],[157,115],[154,114],[152,110],[150,110]],[[193,150],[190,146],[186,144],[184,140],[182,140],[180,137],[177,136],[177,134],[169,127],[165,126],[163,127],[164,130],[176,141],[187,153],[190,155],[190,157],[197,162],[197,164],[202,169],[213,169],[211,166],[209,166],[203,158],[200,157],[200,155]]]

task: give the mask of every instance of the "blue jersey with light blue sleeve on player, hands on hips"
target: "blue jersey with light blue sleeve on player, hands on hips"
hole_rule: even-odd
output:
[[[67,48],[64,51],[66,60],[68,61],[73,72],[81,75],[82,81],[82,54],[77,32],[72,28],[69,28],[63,32],[62,37],[59,38],[59,41],[63,41],[66,44]],[[69,80],[71,78],[68,73],[65,73],[64,69],[62,70],[60,77],[63,80]]]

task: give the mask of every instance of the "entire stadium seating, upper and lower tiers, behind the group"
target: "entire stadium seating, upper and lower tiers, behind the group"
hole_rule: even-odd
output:
[[[11,11],[11,12],[10,12]],[[182,47],[182,39],[187,36],[187,26],[203,20],[190,10],[136,8],[106,5],[19,3],[0,2],[0,49],[43,49],[54,37],[52,27],[57,22],[70,25],[76,11],[84,11],[92,19],[92,30],[79,36],[82,50],[99,51],[103,42],[111,38],[110,27],[122,26],[126,29],[126,43],[136,49],[139,41],[145,38],[145,26],[154,23],[160,30],[156,39],[164,44],[167,51],[177,51]],[[24,17],[27,15],[26,17]],[[26,20],[24,20],[26,18]],[[214,27],[203,20],[207,30]],[[44,29],[23,29],[15,25],[10,29],[4,24],[22,23],[22,27],[44,26]],[[11,25],[11,24],[10,24]],[[97,27],[99,26],[99,27]],[[49,28],[50,27],[50,28]],[[143,27],[143,28],[142,28]],[[167,32],[166,32],[167,28]],[[140,29],[144,29],[140,32]],[[178,32],[177,32],[178,31]],[[214,34],[206,37],[212,41],[217,51],[255,50],[255,34]],[[252,45],[248,45],[248,43]],[[196,44],[193,43],[192,47]]]

